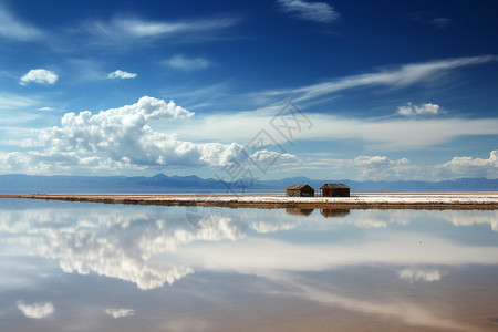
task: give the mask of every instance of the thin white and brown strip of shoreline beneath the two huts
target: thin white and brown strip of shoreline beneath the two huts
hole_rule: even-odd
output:
[[[12,194],[0,195],[0,198],[227,208],[498,209],[498,193],[352,194],[351,197],[289,197],[284,194]]]

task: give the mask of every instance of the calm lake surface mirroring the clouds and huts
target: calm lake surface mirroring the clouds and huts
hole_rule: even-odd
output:
[[[0,331],[497,331],[498,211],[0,199]]]

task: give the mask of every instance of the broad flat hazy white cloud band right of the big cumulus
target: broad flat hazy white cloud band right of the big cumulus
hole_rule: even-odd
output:
[[[178,135],[191,139],[248,142],[281,110],[271,112],[240,112],[210,114],[175,126]],[[362,139],[366,146],[383,151],[419,149],[447,143],[466,135],[497,135],[498,118],[434,118],[412,116],[406,118],[352,118],[340,115],[305,113],[312,122],[311,129],[294,131],[295,139]],[[291,123],[292,125],[295,125]],[[273,138],[283,142],[276,134]]]

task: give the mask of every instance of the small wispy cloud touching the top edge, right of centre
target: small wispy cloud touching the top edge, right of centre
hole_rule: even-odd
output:
[[[302,20],[330,23],[339,18],[334,9],[325,2],[308,2],[303,0],[277,0],[280,9]]]

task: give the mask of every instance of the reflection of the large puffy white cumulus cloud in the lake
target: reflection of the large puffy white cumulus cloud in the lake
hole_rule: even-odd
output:
[[[164,208],[155,214],[110,208],[9,210],[2,211],[0,231],[19,235],[34,255],[59,259],[64,272],[95,272],[153,289],[193,272],[188,267],[153,263],[154,255],[193,241],[234,241],[248,229],[269,232],[295,226],[286,220],[218,217],[216,227],[196,229],[185,221],[184,209],[167,210],[166,218],[164,212]]]

